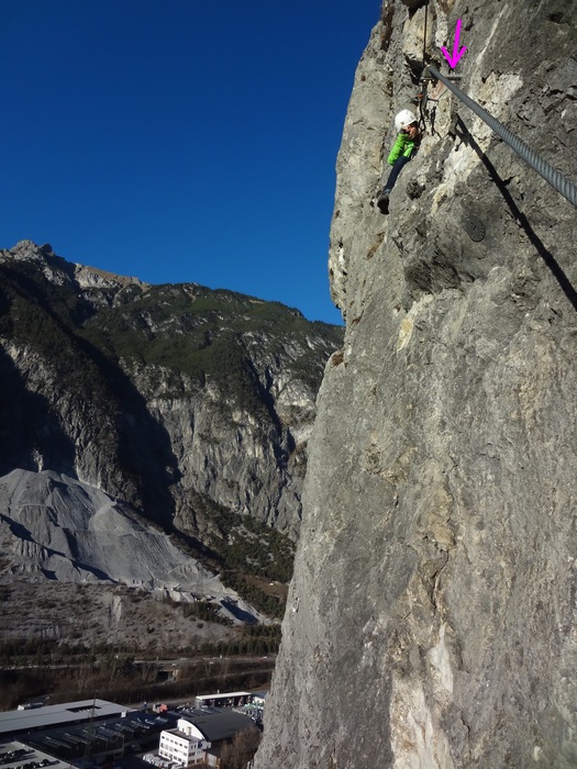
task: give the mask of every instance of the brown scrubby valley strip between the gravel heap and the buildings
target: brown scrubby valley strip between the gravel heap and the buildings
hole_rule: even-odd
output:
[[[44,695],[143,702],[266,687],[280,638],[278,624],[213,622],[206,602],[124,586],[3,583],[0,611],[0,710]]]

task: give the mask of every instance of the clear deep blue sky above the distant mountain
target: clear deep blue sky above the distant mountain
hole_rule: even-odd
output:
[[[380,0],[2,0],[0,247],[341,322],[326,260]]]

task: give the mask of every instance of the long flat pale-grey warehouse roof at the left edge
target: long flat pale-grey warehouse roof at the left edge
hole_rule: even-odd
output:
[[[80,702],[63,702],[59,705],[45,705],[26,711],[8,711],[0,713],[0,736],[19,734],[33,729],[46,729],[51,726],[75,724],[95,718],[114,718],[131,707],[116,705],[106,700],[82,700]]]

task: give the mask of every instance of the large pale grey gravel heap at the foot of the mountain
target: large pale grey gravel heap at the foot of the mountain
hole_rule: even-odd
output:
[[[231,616],[234,610],[259,616],[129,505],[52,470],[18,469],[0,478],[0,548],[4,580],[120,582],[176,600],[210,595]]]

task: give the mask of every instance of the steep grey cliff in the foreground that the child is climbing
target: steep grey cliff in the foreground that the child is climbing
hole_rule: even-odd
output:
[[[258,769],[577,766],[577,215],[447,92],[374,207],[424,13],[385,2],[345,122]],[[576,180],[575,3],[431,3],[439,63],[458,19],[463,90]]]

